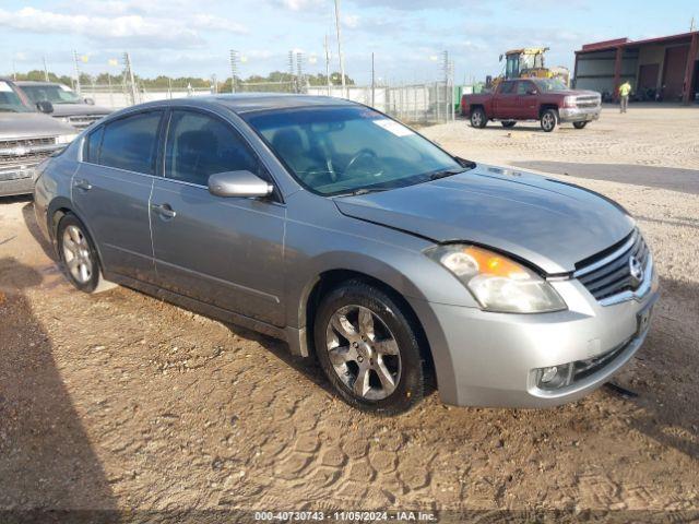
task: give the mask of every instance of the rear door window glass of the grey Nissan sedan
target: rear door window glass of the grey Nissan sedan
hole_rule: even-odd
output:
[[[107,123],[104,127],[99,164],[155,175],[157,129],[162,112],[141,112]]]

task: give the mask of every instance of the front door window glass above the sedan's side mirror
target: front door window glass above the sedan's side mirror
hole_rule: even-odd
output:
[[[254,154],[227,123],[196,111],[173,111],[165,147],[165,177],[206,186],[216,172],[259,174]]]

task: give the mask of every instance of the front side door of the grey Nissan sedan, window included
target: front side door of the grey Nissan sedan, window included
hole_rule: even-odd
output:
[[[228,122],[196,110],[171,112],[165,177],[155,181],[151,199],[158,283],[283,325],[286,207],[274,200],[222,198],[208,190],[210,175],[244,169],[266,177]]]

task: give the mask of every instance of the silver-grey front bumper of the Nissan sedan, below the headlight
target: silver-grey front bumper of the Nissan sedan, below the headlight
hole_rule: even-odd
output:
[[[569,307],[554,313],[493,313],[411,300],[430,344],[441,400],[459,406],[538,408],[594,391],[645,340],[649,319],[643,315],[639,325],[639,313],[659,296],[656,281],[649,278],[653,284],[644,295],[611,306],[597,302],[577,279],[553,282]],[[567,385],[537,385],[542,368],[590,361],[599,364]]]

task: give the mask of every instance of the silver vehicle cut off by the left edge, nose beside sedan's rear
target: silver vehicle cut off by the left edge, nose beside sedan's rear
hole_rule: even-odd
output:
[[[0,196],[31,193],[35,167],[75,136],[74,128],[37,112],[0,79]]]

